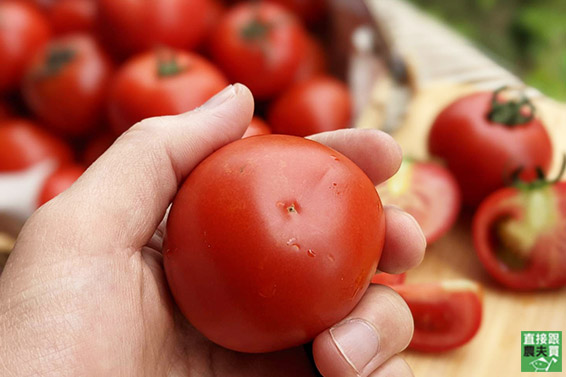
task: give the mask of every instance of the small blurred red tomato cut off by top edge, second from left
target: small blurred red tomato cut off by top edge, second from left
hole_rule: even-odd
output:
[[[96,22],[96,0],[58,0],[50,6],[47,17],[57,34],[91,31]]]

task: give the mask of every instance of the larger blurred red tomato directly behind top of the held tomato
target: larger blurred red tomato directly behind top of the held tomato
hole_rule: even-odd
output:
[[[318,76],[293,85],[275,100],[268,114],[274,133],[308,136],[350,125],[352,105],[342,82]]]

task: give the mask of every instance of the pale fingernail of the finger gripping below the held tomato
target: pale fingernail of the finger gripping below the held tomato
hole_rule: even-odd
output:
[[[363,319],[350,319],[332,327],[330,336],[340,354],[358,374],[379,351],[377,331]]]

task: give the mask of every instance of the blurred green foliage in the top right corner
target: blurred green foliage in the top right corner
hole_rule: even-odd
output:
[[[566,0],[411,0],[545,94],[566,100]]]

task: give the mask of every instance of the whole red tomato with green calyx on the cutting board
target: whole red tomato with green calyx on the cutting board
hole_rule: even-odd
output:
[[[430,130],[429,151],[444,159],[467,206],[476,207],[504,187],[517,168],[532,172],[539,166],[546,172],[552,163],[552,143],[533,104],[509,95],[501,88],[460,98],[442,110]]]

